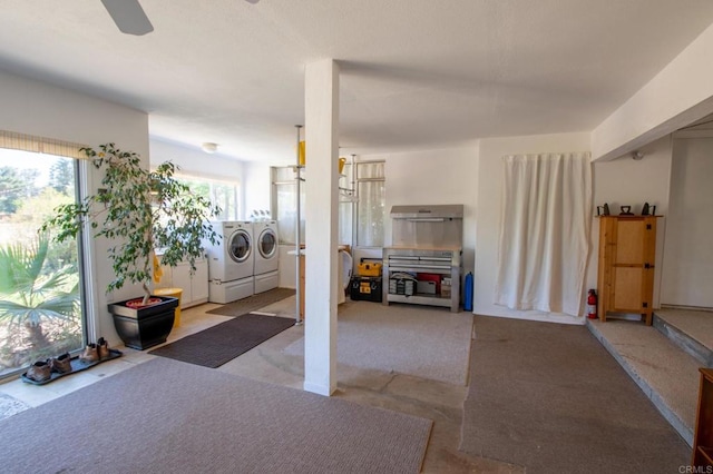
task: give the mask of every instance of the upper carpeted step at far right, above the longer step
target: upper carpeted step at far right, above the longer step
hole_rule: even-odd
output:
[[[713,313],[663,308],[654,312],[654,327],[702,366],[713,367]]]

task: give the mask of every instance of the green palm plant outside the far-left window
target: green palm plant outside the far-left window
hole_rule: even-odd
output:
[[[72,322],[80,310],[77,269],[67,265],[43,273],[48,251],[45,234],[29,245],[16,243],[0,248],[0,323],[25,328],[30,346],[37,350],[52,344],[43,324]]]

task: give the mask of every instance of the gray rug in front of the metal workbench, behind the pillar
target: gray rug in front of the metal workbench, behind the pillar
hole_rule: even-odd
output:
[[[309,316],[305,325],[310,324]],[[351,302],[339,307],[336,359],[352,367],[465,386],[472,314]],[[304,337],[283,350],[304,356]]]

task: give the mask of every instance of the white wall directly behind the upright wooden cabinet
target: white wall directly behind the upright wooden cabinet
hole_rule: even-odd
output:
[[[621,206],[632,206],[632,213],[641,214],[644,203],[656,206],[656,215],[668,211],[668,186],[671,181],[671,137],[661,138],[639,148],[641,160],[624,156],[612,161],[594,164],[594,204],[609,205],[612,214],[619,214]],[[596,213],[595,213],[596,214]],[[660,307],[663,245],[666,228],[665,217],[656,221],[656,263],[654,271],[654,308]],[[592,224],[592,251],[587,267],[587,288],[597,287],[597,259],[599,221]]]

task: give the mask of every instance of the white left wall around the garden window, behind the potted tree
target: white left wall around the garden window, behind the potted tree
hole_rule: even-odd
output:
[[[124,150],[139,154],[148,167],[148,116],[145,112],[7,72],[0,72],[0,129],[91,147],[111,141]],[[100,176],[92,167],[87,168],[87,188],[94,192]],[[109,344],[118,344],[106,309],[107,302],[135,296],[137,287],[105,294],[114,277],[107,265],[108,246],[97,239],[89,239],[89,246],[90,268],[86,276],[94,285],[88,300],[89,328],[96,333],[90,337],[104,336]]]

